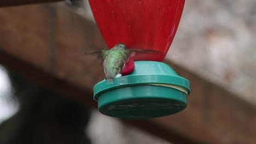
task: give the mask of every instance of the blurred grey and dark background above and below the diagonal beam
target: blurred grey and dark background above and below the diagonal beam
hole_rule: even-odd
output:
[[[94,22],[86,0],[57,4]],[[254,0],[186,1],[166,59],[255,106],[255,8]],[[170,143],[7,69],[0,67],[0,143]]]

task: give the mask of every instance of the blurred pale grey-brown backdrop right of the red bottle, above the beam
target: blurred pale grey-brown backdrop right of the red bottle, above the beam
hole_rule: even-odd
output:
[[[256,1],[186,1],[167,58],[256,104]]]

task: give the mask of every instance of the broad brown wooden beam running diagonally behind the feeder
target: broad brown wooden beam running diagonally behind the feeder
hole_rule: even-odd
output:
[[[103,69],[94,57],[70,57],[106,46],[96,25],[58,5],[0,9],[0,63],[86,106]],[[191,82],[188,107],[176,115],[123,120],[174,143],[254,143],[255,107],[166,62]]]

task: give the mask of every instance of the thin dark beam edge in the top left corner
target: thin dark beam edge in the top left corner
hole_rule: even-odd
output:
[[[65,0],[1,0],[0,7],[10,7],[14,5],[25,5],[25,4],[36,4],[36,3],[50,3],[50,2],[60,2]],[[72,0],[81,1],[81,0]]]

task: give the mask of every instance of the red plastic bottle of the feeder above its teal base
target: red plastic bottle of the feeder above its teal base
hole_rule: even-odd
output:
[[[124,43],[136,53],[134,61],[163,61],[181,19],[185,0],[89,0],[109,49]]]

